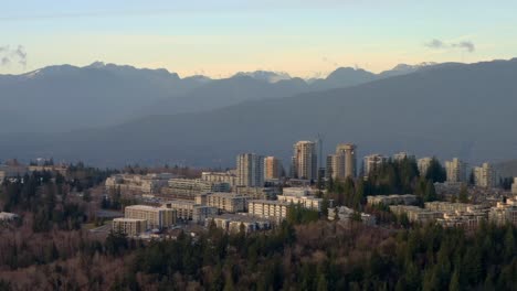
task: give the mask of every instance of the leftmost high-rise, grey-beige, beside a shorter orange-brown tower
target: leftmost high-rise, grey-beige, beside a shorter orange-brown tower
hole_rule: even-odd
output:
[[[236,172],[240,186],[264,186],[264,157],[255,153],[242,153],[236,158]]]

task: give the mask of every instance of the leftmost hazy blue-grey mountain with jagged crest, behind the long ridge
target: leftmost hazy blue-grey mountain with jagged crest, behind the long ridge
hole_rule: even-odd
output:
[[[94,63],[50,66],[18,76],[0,76],[0,103],[10,122],[0,132],[62,131],[127,120],[136,110],[204,85],[166,69]],[[1,120],[1,119],[0,119]]]

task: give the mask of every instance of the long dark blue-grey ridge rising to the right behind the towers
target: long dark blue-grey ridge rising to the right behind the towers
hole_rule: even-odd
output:
[[[435,65],[348,88],[149,116],[105,129],[3,136],[0,158],[233,165],[235,154],[257,152],[287,163],[295,141],[321,133],[327,152],[350,141],[361,155],[405,150],[503,161],[517,157],[516,79],[517,60]]]

